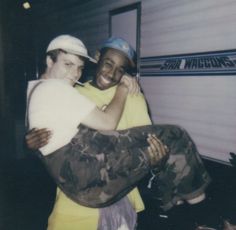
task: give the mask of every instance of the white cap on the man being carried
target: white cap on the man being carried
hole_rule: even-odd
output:
[[[65,50],[68,53],[79,55],[82,57],[85,57],[89,59],[91,62],[96,62],[95,59],[91,58],[88,55],[88,51],[84,45],[84,43],[71,35],[60,35],[56,38],[54,38],[48,45],[47,52],[56,50],[56,49],[62,49]]]

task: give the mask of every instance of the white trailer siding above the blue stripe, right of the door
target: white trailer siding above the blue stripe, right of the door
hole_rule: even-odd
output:
[[[235,0],[142,2],[142,57],[234,49]]]

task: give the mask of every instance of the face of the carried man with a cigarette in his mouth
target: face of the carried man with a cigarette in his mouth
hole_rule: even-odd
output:
[[[82,75],[84,60],[77,55],[60,52],[55,61],[47,56],[47,70],[45,78],[66,80],[74,85]]]

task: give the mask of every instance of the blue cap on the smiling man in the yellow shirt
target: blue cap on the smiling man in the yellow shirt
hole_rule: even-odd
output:
[[[120,51],[129,59],[131,66],[135,66],[135,51],[133,47],[123,38],[110,37],[101,45],[100,49],[103,48],[112,48]]]

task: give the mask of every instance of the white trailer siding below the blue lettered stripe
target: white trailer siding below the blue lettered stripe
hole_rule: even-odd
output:
[[[154,123],[183,126],[204,156],[227,161],[236,150],[236,77],[145,77]]]

